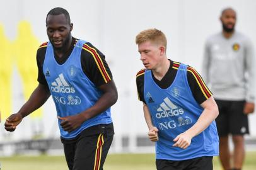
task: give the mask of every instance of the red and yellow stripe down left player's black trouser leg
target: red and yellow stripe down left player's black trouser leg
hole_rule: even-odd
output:
[[[98,141],[96,145],[96,150],[95,150],[95,162],[94,162],[94,168],[93,170],[99,170],[100,169],[100,161],[102,159],[102,146],[104,144],[104,138],[103,134],[100,133],[98,136]]]

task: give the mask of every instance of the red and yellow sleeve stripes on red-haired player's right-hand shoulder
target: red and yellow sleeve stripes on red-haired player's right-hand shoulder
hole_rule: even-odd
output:
[[[199,88],[201,89],[206,99],[210,98],[212,96],[212,93],[207,88],[206,84],[204,84],[204,81],[202,80],[202,77],[198,74],[198,72],[195,71],[195,69],[190,66],[187,67],[187,71],[191,72],[192,75],[195,77],[195,80],[197,81],[197,84],[199,85]]]

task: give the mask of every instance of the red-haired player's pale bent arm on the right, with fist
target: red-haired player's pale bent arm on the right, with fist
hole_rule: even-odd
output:
[[[180,133],[173,141],[176,142],[173,146],[186,149],[191,143],[191,139],[204,131],[219,115],[218,106],[214,98],[208,98],[201,104],[204,110],[197,122],[184,133]]]

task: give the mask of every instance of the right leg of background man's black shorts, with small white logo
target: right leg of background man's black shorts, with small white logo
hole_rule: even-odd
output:
[[[233,101],[230,107],[230,133],[244,135],[249,133],[248,116],[243,113],[245,101]]]

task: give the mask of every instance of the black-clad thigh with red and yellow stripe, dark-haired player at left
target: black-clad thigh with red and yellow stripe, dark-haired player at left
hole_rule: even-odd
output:
[[[73,170],[101,170],[113,135],[100,133],[81,137],[76,145]]]

